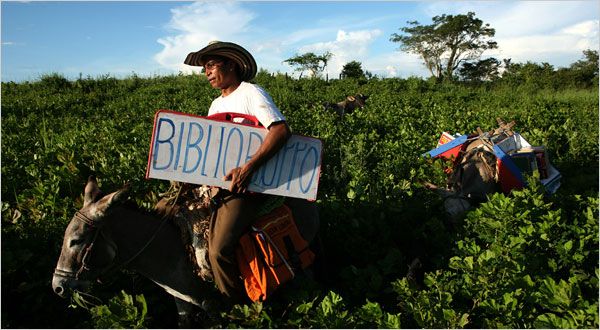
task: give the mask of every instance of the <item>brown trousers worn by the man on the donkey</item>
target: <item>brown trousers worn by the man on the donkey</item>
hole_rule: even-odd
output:
[[[208,258],[219,290],[234,303],[242,303],[248,296],[240,278],[235,249],[266,197],[263,194],[232,194],[223,189],[219,196],[221,205],[210,223]]]

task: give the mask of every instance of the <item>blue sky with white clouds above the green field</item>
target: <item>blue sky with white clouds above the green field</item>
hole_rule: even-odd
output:
[[[327,72],[359,61],[383,77],[429,73],[389,41],[407,21],[475,12],[496,29],[484,57],[566,67],[599,48],[599,1],[2,1],[1,79],[34,81],[189,73],[182,62],[209,41],[239,43],[270,72],[296,54],[329,51]],[[293,73],[298,76],[298,73]]]

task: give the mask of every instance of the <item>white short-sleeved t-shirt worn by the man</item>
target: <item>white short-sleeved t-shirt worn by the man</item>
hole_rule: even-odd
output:
[[[231,94],[216,98],[208,109],[208,115],[222,112],[242,113],[254,116],[268,128],[271,124],[284,121],[285,118],[273,103],[271,96],[262,87],[245,81]],[[234,118],[237,123],[252,124],[244,118]]]

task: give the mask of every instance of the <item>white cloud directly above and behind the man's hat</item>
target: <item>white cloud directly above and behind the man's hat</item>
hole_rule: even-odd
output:
[[[255,15],[238,2],[194,2],[171,10],[167,28],[174,35],[159,38],[163,50],[154,56],[161,66],[181,72],[199,72],[199,68],[183,64],[185,57],[206,46],[210,41],[239,42],[240,34],[248,31]]]

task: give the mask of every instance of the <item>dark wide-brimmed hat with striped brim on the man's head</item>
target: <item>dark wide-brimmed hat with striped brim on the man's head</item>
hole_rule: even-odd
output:
[[[242,46],[232,42],[211,41],[208,46],[189,53],[183,63],[193,66],[203,66],[203,57],[208,55],[223,56],[234,60],[239,68],[242,81],[248,81],[256,75],[256,61]]]

